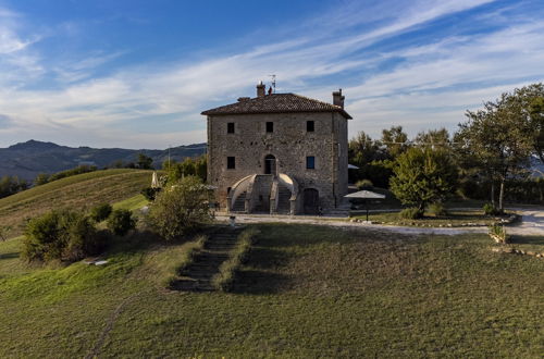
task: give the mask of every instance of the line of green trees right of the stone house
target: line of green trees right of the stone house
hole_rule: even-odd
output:
[[[359,168],[350,180],[390,188],[419,212],[456,193],[481,196],[482,188],[502,212],[508,185],[520,199],[539,194],[544,200],[544,181],[530,181],[528,171],[531,158],[544,163],[544,85],[502,94],[466,117],[453,136],[440,128],[409,140],[401,126],[393,126],[373,140],[360,132],[349,141],[349,163]]]

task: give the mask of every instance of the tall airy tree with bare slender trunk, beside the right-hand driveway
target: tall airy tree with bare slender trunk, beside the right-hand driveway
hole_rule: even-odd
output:
[[[506,181],[519,177],[529,164],[534,138],[529,136],[521,101],[503,94],[478,111],[467,111],[468,122],[459,124],[455,135],[457,153],[462,162],[477,168],[491,181],[495,206],[495,182],[499,183],[498,210],[504,210]]]

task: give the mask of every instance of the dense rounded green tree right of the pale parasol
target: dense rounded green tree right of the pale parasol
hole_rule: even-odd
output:
[[[457,168],[443,150],[412,147],[398,156],[391,190],[405,205],[416,206],[423,214],[425,206],[443,201],[457,184]]]

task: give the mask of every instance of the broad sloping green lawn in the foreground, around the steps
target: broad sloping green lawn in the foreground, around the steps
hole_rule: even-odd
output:
[[[0,243],[0,357],[544,352],[544,260],[492,252],[486,235],[258,227],[232,294],[163,289],[186,245],[151,235],[114,245],[104,267],[27,267],[21,238]]]

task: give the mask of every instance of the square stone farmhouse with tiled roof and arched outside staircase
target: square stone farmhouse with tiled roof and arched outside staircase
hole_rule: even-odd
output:
[[[265,95],[202,112],[208,116],[208,182],[227,212],[332,213],[347,194],[347,121],[333,103]]]

